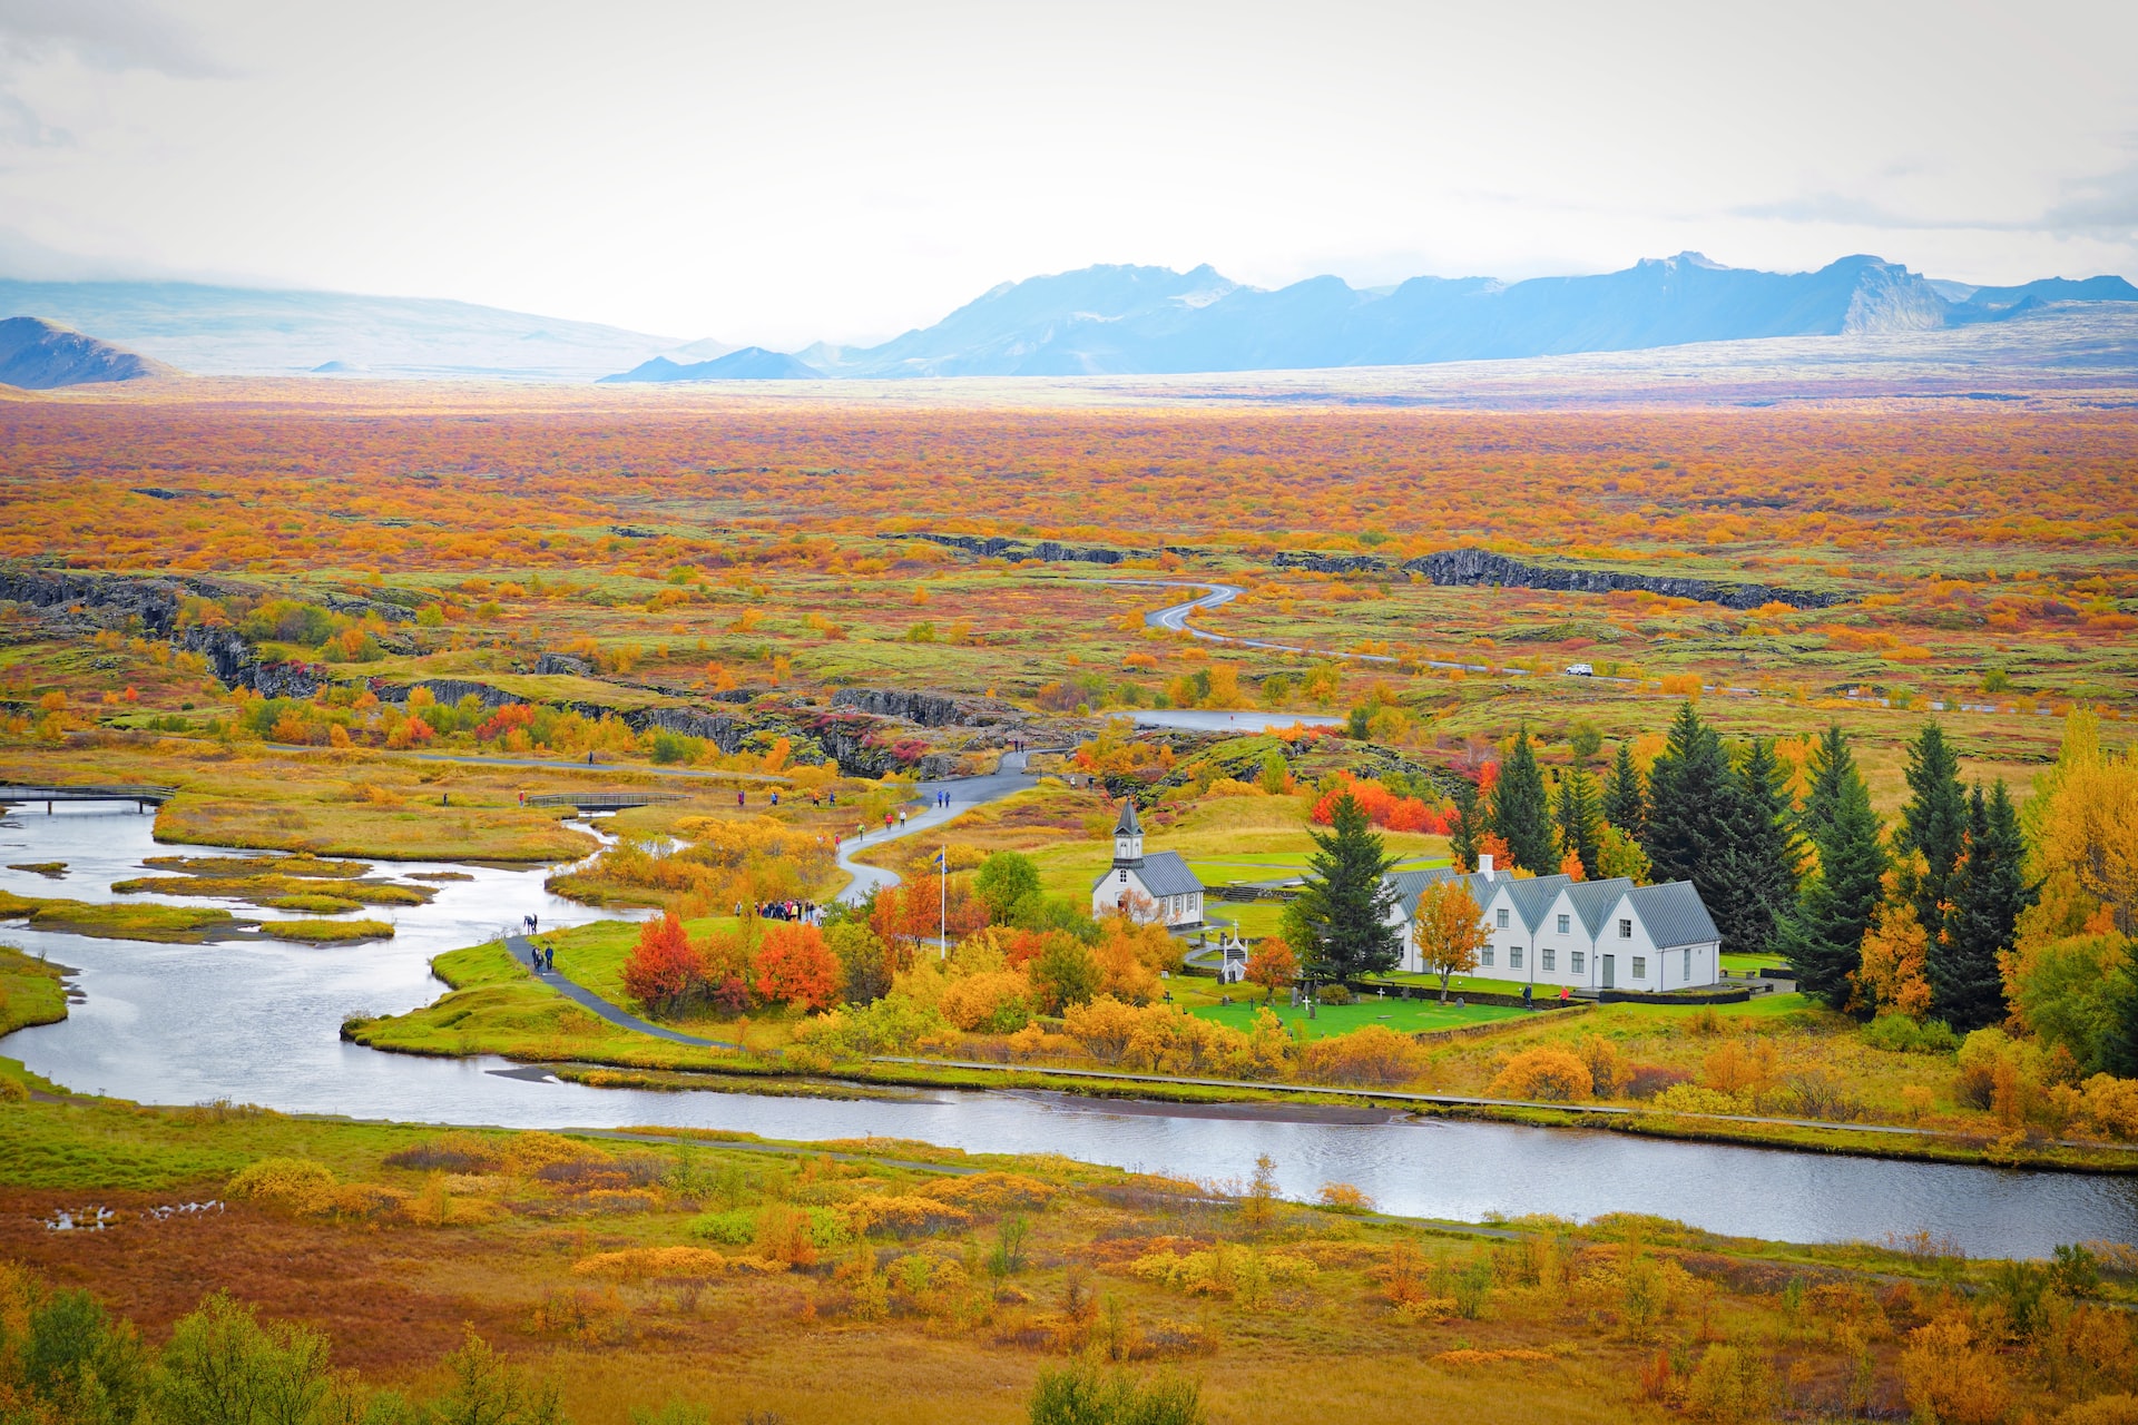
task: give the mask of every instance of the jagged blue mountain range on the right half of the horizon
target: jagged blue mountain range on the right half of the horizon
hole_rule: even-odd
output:
[[[1939,291],[1943,286],[1943,291]],[[810,346],[830,376],[1131,376],[1420,365],[1783,335],[1926,331],[2061,301],[2138,301],[2123,278],[1969,288],[1847,256],[1819,271],[1723,267],[1698,252],[1593,278],[1411,278],[1276,291],[1210,267],[1086,267],[1007,282],[883,346]]]

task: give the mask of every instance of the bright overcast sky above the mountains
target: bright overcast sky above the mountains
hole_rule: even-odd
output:
[[[2138,4],[0,0],[0,273],[768,346],[1088,263],[2138,278]]]

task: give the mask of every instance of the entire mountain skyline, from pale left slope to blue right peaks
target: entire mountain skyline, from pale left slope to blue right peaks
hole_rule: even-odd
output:
[[[1210,267],[1084,267],[1005,282],[881,346],[735,350],[464,301],[186,282],[9,282],[0,316],[43,316],[199,374],[605,382],[900,376],[1144,376],[1417,365],[1691,342],[1931,331],[2138,301],[2123,278],[1969,286],[1875,256],[1817,271],[1698,252],[1586,278],[1411,278],[1276,291]]]

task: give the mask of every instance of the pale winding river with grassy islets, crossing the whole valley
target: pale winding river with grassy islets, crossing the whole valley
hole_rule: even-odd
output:
[[[152,818],[94,808],[21,808],[0,820],[0,863],[64,861],[64,880],[0,870],[21,895],[111,899],[141,859],[171,852]],[[199,855],[199,848],[188,848]],[[141,1102],[231,1098],[289,1113],[513,1128],[729,1128],[780,1139],[904,1137],[977,1152],[1060,1152],[1199,1179],[1240,1179],[1270,1154],[1289,1196],[1326,1181],[1390,1211],[1651,1211],[1723,1233],[1790,1241],[1931,1231],[1971,1254],[2046,1254],[2080,1239],[2138,1237],[2138,1179],[1828,1158],[1507,1124],[1319,1122],[1107,1107],[1052,1094],[928,1092],[889,1102],[588,1090],[507,1077],[502,1060],[421,1060],[344,1045],[348,1013],[400,1013],[440,993],[430,957],[492,938],[522,914],[569,925],[601,912],[543,891],[543,872],[391,863],[374,874],[466,872],[428,906],[381,908],[396,938],[312,949],[272,934],[218,944],[90,940],[26,927],[0,938],[79,968],[64,1023],[0,1045],[77,1092]],[[201,902],[188,902],[201,904]],[[254,912],[231,906],[244,914]],[[269,923],[272,931],[272,923]]]

